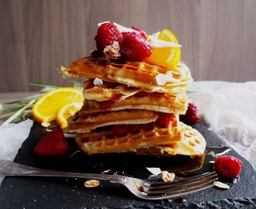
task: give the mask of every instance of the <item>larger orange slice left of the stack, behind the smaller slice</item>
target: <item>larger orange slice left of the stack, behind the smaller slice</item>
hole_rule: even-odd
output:
[[[52,122],[57,118],[57,112],[65,105],[83,103],[81,90],[74,87],[59,87],[43,94],[33,105],[33,118],[37,122]]]

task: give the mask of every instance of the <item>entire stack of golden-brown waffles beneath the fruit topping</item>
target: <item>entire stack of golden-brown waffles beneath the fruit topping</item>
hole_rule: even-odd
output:
[[[84,77],[84,105],[68,118],[78,147],[88,155],[135,152],[160,156],[201,156],[202,135],[179,122],[188,107],[190,70],[173,70],[136,61],[84,57],[62,68],[68,77]]]

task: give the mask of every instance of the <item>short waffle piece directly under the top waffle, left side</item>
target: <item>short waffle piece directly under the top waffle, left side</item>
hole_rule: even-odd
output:
[[[133,94],[140,91],[139,87],[128,87],[125,84],[116,84],[111,82],[104,82],[97,86],[93,84],[93,80],[89,79],[84,82],[84,98],[85,100],[95,101],[121,101],[129,98]]]

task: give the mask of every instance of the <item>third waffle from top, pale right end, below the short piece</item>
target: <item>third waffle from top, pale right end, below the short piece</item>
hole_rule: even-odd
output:
[[[145,109],[184,115],[188,108],[185,92],[180,94],[147,93],[140,91],[125,100],[114,101],[85,101],[83,111],[86,113],[99,111],[119,111],[123,109]]]

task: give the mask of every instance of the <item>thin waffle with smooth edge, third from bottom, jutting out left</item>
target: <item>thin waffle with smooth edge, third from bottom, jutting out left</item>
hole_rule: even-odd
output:
[[[90,132],[106,125],[145,124],[155,122],[158,114],[147,110],[106,111],[86,114],[83,109],[67,119],[69,132]]]

